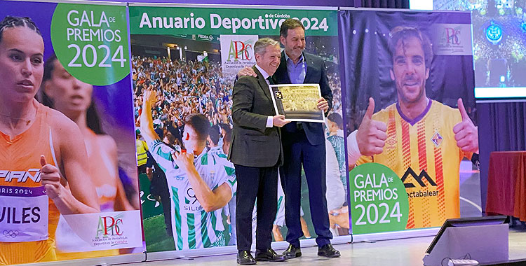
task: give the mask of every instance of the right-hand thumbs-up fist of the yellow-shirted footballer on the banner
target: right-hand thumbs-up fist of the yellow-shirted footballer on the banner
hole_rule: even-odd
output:
[[[462,151],[478,153],[478,128],[471,122],[462,99],[458,100],[458,105],[462,121],[453,127],[454,139]]]

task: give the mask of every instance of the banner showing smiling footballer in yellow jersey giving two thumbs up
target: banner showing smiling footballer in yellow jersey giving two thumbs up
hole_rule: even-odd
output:
[[[459,183],[473,173],[473,153],[457,146],[456,132],[469,125],[477,136],[470,23],[469,13],[339,11],[347,159],[358,165],[349,176],[353,233],[437,227],[461,215]],[[384,132],[364,138],[358,128]]]

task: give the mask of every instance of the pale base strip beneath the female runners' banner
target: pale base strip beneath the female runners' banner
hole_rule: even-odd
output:
[[[117,255],[113,257],[100,257],[100,258],[83,258],[79,260],[57,260],[53,262],[39,262],[29,264],[18,264],[18,265],[112,265],[120,263],[132,263],[132,262],[143,262],[146,260],[146,253],[135,253]]]

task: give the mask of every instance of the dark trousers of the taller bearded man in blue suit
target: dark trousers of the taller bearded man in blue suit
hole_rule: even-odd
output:
[[[290,134],[290,133],[289,133]],[[306,138],[304,130],[298,130],[290,135],[293,141],[283,141],[285,162],[281,168],[281,183],[285,192],[285,224],[287,225],[286,240],[299,247],[299,237],[303,236],[302,224],[299,220],[299,208],[302,200],[302,164],[309,187],[309,204],[311,218],[316,232],[318,246],[330,244],[329,214],[325,192],[325,144],[312,145]],[[292,138],[291,138],[292,139]],[[287,139],[288,140],[288,139]]]

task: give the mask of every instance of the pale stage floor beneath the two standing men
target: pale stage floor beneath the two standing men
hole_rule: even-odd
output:
[[[510,260],[526,259],[526,228],[524,225],[517,225],[510,228],[509,252]],[[397,239],[376,241],[373,243],[360,242],[353,244],[335,245],[341,253],[340,258],[322,258],[316,255],[317,247],[302,248],[302,257],[287,260],[286,262],[258,262],[257,265],[389,265],[407,266],[422,265],[422,258],[433,237],[416,237],[410,239]],[[281,251],[278,251],[281,252]],[[253,254],[253,253],[252,253]],[[210,257],[200,257],[175,260],[159,260],[152,262],[130,263],[132,266],[235,266],[236,255],[214,255]]]

